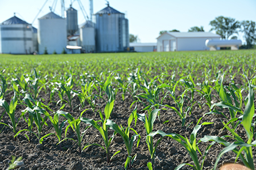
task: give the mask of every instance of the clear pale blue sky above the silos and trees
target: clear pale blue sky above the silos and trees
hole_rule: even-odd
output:
[[[0,0],[0,23],[16,16],[31,23],[46,0]],[[89,0],[80,0],[89,14]],[[49,12],[53,0],[48,0],[38,18]],[[71,0],[65,0],[68,8]],[[156,37],[162,30],[178,29],[187,32],[193,26],[203,26],[210,30],[209,22],[217,16],[228,16],[241,20],[256,22],[255,0],[109,0],[110,6],[126,14],[129,19],[130,33],[137,35],[141,42],[156,42]],[[60,0],[57,2],[56,14],[61,15]],[[73,7],[79,11],[79,24],[85,22],[77,2]],[[94,13],[106,7],[105,0],[94,0]],[[34,27],[38,27],[37,19]],[[243,36],[238,36],[243,39]]]

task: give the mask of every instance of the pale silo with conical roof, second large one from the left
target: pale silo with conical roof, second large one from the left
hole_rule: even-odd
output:
[[[67,22],[64,18],[49,12],[38,19],[39,54],[47,49],[49,54],[54,51],[60,54],[67,46]]]

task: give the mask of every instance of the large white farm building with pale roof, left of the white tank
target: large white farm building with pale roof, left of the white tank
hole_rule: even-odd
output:
[[[206,40],[219,40],[220,35],[211,32],[165,32],[157,40],[158,52],[209,50]]]

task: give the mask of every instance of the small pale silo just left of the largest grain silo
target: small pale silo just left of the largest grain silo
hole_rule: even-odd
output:
[[[80,28],[80,39],[82,50],[85,53],[96,51],[94,23],[87,21]]]

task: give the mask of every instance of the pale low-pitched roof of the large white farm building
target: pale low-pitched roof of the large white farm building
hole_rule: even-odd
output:
[[[168,34],[170,36],[173,36],[175,38],[204,38],[204,37],[221,37],[220,35],[217,35],[212,32],[165,32],[159,37]],[[158,38],[159,38],[158,37]],[[157,39],[158,39],[157,38]]]

